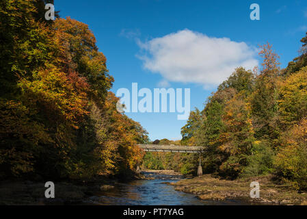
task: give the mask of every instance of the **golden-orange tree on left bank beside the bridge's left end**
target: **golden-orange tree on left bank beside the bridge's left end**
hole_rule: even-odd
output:
[[[96,130],[101,136],[98,153],[104,166],[109,164],[111,172],[126,175],[141,164],[144,153],[136,144],[146,144],[148,136],[139,123],[116,110],[118,100],[114,93],[108,93],[102,125]]]

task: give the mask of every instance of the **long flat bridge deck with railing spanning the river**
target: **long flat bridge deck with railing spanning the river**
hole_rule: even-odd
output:
[[[176,145],[159,145],[159,144],[138,144],[144,151],[155,152],[176,152],[176,153],[201,153],[202,146],[176,146]]]

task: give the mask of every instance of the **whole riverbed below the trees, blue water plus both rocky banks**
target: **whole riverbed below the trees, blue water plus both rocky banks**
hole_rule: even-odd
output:
[[[252,181],[260,184],[260,198],[250,198]],[[307,192],[297,192],[271,176],[184,179],[173,170],[143,170],[126,182],[101,177],[54,183],[55,198],[45,198],[43,182],[1,181],[0,205],[174,205],[174,201],[178,205],[307,205]]]

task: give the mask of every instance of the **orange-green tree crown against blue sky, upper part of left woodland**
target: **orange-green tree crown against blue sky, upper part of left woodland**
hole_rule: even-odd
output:
[[[108,73],[105,55],[98,51],[94,34],[88,25],[69,17],[57,19],[55,30],[62,45],[59,64],[67,72],[75,70],[85,77],[90,83],[90,99],[103,105],[114,79]]]

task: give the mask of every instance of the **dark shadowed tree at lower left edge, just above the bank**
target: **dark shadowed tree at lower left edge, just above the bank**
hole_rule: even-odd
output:
[[[32,172],[35,153],[53,142],[34,114],[19,101],[0,100],[0,178]]]

